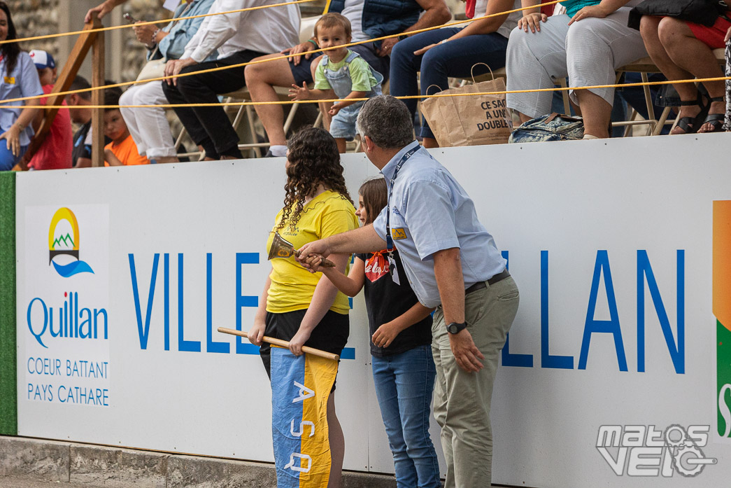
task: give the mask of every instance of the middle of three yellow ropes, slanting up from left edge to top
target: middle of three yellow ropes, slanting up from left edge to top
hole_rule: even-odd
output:
[[[498,17],[500,15],[509,15],[512,12],[521,12],[523,10],[530,10],[530,9],[534,9],[534,8],[537,8],[537,7],[542,7],[544,5],[553,5],[553,4],[557,4],[558,1],[561,1],[561,0],[548,1],[546,3],[538,4],[538,5],[533,5],[531,7],[520,7],[519,9],[507,10],[506,12],[498,12],[498,13],[494,13],[494,14],[490,14],[490,15],[483,15],[482,17],[476,17],[476,18],[471,18],[471,19],[467,19],[467,20],[458,20],[457,22],[447,23],[447,24],[444,24],[442,26],[425,27],[424,29],[418,29],[418,30],[415,30],[415,31],[409,31],[409,35],[420,34],[421,32],[433,31],[435,29],[442,29],[442,27],[457,26],[457,25],[463,24],[463,23],[474,22],[475,20],[481,20],[481,19],[491,18],[491,17]],[[376,42],[376,41],[380,41],[380,40],[390,39],[392,37],[399,37],[401,35],[403,35],[403,34],[401,34],[401,33],[399,33],[399,34],[390,34],[388,36],[376,37],[374,39],[357,41],[357,42],[350,42],[349,44],[344,44],[343,47],[349,48],[351,46],[360,45],[360,44],[367,44],[368,42]],[[300,53],[297,56],[304,56],[305,54],[312,54],[312,53],[321,53],[323,51],[325,51],[325,49],[315,49],[315,50],[308,51],[307,53]],[[0,100],[0,104],[3,104],[3,103],[12,103],[12,102],[24,102],[26,100],[37,100],[37,99],[42,99],[42,98],[55,97],[56,95],[64,95],[64,96],[66,96],[66,95],[75,94],[75,93],[83,93],[83,92],[86,92],[86,91],[95,91],[95,90],[103,90],[103,89],[108,89],[108,88],[117,88],[117,87],[121,87],[121,86],[135,85],[137,83],[148,83],[148,82],[151,82],[151,81],[162,81],[162,80],[170,80],[170,79],[173,79],[173,78],[184,78],[186,76],[202,75],[204,73],[210,73],[210,72],[216,72],[216,71],[224,71],[224,70],[231,70],[233,68],[246,67],[246,66],[249,66],[250,64],[267,63],[269,61],[276,61],[278,59],[287,59],[287,58],[291,58],[291,57],[292,56],[289,55],[289,54],[284,54],[283,56],[275,56],[273,58],[268,58],[268,59],[259,59],[259,60],[256,60],[256,61],[249,61],[249,62],[246,62],[246,63],[231,64],[230,66],[222,66],[222,67],[217,67],[217,68],[210,68],[208,70],[200,70],[200,71],[192,71],[192,72],[187,72],[187,73],[181,73],[181,74],[179,74],[177,76],[161,76],[159,78],[151,78],[149,80],[125,81],[123,83],[114,83],[113,85],[92,86],[91,88],[88,88],[88,89],[69,90],[69,91],[58,91],[57,93],[37,95],[35,97],[11,98],[11,99],[8,99],[8,100]]]

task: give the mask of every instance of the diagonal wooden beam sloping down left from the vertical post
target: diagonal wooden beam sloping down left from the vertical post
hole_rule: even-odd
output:
[[[100,26],[101,23],[98,19],[96,19],[96,25],[94,23],[88,23],[84,26],[83,30],[88,31],[89,29],[95,29]],[[56,84],[53,86],[53,91],[51,91],[52,94],[61,93],[62,91],[68,91],[71,83],[74,82],[74,79],[79,72],[81,64],[88,55],[89,49],[91,49],[91,45],[94,44],[96,37],[96,32],[84,32],[83,34],[79,34],[79,38],[76,41],[76,44],[71,51],[71,54],[69,55],[68,61],[66,62],[66,64],[64,64],[64,69],[61,70],[61,75],[58,75]],[[36,135],[31,140],[31,144],[23,157],[23,161],[21,162],[21,167],[23,168],[23,170],[28,169],[25,163],[30,161],[31,157],[36,154],[43,141],[45,141],[46,136],[48,136],[48,132],[50,132],[50,126],[51,124],[53,124],[53,119],[56,119],[56,113],[58,113],[59,110],[53,105],[61,105],[61,102],[64,101],[64,98],[64,95],[54,95],[53,97],[48,97],[46,99],[46,105],[51,106],[44,109],[45,113],[43,116],[43,121],[41,122],[41,127],[39,127]]]

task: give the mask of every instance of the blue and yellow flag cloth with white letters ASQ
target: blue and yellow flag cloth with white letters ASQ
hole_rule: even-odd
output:
[[[277,488],[326,488],[327,397],[338,362],[271,348],[272,440]]]

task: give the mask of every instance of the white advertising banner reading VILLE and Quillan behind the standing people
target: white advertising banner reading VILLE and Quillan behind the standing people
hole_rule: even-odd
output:
[[[731,479],[730,143],[432,152],[520,288],[493,392],[494,483]],[[377,170],[343,161],[357,198]],[[19,174],[19,435],[271,461],[257,348],[216,328],[251,326],[283,188],[284,159]],[[393,473],[362,296],[343,358],[344,468]]]

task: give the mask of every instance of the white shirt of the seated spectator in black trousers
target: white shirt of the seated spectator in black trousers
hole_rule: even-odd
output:
[[[216,0],[210,13],[240,10],[279,0]],[[219,50],[219,59],[233,53],[252,50],[278,53],[298,44],[300,38],[300,9],[298,5],[270,7],[205,18],[197,33],[186,45],[182,59],[202,62]]]

